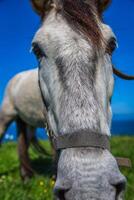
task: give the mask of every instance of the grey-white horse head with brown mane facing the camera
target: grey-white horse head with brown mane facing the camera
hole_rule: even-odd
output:
[[[110,0],[31,3],[42,21],[32,48],[53,141],[76,137],[60,148],[54,198],[122,200],[126,178],[110,150],[82,145],[83,138],[111,135],[116,37],[103,22]]]

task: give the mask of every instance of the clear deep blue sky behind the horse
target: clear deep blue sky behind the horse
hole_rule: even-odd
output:
[[[134,0],[113,0],[105,13],[105,22],[118,39],[113,63],[123,72],[134,74]],[[40,19],[29,0],[0,0],[0,101],[14,74],[37,66],[29,50],[39,25]],[[134,81],[115,77],[112,107],[114,118],[134,119]]]

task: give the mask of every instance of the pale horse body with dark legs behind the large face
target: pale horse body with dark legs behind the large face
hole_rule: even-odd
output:
[[[44,128],[46,121],[37,68],[21,72],[9,81],[0,109],[0,141],[13,121],[18,132],[20,174],[25,181],[34,174],[28,155],[30,142],[48,155],[35,136],[36,128]]]

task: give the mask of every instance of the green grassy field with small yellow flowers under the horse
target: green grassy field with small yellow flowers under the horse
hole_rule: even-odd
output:
[[[43,145],[50,151],[48,142]],[[134,200],[134,137],[114,137],[112,152],[115,156],[125,156],[132,160],[132,169],[121,169],[127,177],[126,200]],[[30,149],[32,166],[37,175],[27,183],[19,176],[19,163],[15,143],[6,143],[0,148],[0,200],[51,200],[52,180],[51,159],[39,157]]]

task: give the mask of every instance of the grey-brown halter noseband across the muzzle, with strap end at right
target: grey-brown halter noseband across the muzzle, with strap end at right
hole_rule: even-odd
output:
[[[99,133],[93,133],[89,130],[75,132],[73,134],[60,135],[52,137],[55,150],[68,148],[92,147],[98,149],[107,149],[110,151],[110,137]],[[132,167],[131,160],[128,158],[116,157],[117,164],[121,167]]]

